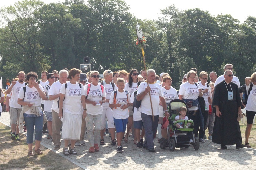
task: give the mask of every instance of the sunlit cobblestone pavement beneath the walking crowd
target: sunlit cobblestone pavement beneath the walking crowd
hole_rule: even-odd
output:
[[[9,125],[9,113],[3,112],[0,121]],[[46,135],[43,135],[41,144],[83,169],[256,169],[256,150],[251,148],[227,146],[227,150],[222,150],[219,145],[206,140],[206,143],[200,143],[197,151],[190,146],[188,149],[175,148],[171,152],[168,147],[161,149],[155,139],[155,152],[150,153],[146,149],[137,149],[129,137],[128,143],[122,142],[123,153],[117,153],[108,134],[104,139],[106,145],[100,145],[99,152],[89,153],[85,137],[86,145],[75,148],[77,155],[69,156],[62,154],[63,141],[58,151],[52,149],[53,143],[47,140]]]

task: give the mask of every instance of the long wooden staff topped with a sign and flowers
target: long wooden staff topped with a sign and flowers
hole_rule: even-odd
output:
[[[147,72],[146,62],[145,62],[145,56],[144,56],[144,44],[146,43],[146,40],[145,40],[145,37],[143,36],[142,29],[140,30],[140,25],[138,24],[138,22],[137,22],[137,25],[136,25],[136,33],[137,33],[137,42],[136,42],[136,45],[139,45],[139,46],[141,47],[142,56],[143,56],[143,62],[144,62],[144,68],[145,68],[145,70],[146,70],[146,72]],[[146,74],[146,78],[147,78],[147,86],[149,86],[147,74]],[[152,111],[152,119],[153,119],[153,121],[155,121],[150,92],[148,92],[148,94],[149,94],[149,97],[150,97],[150,105],[151,105],[151,111]]]

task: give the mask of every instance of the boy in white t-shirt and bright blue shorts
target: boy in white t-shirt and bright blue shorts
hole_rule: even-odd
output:
[[[112,113],[116,126],[117,152],[123,152],[121,140],[125,134],[126,124],[129,117],[128,107],[131,105],[131,97],[125,91],[125,79],[117,78],[118,90],[111,93],[109,107],[113,108]]]

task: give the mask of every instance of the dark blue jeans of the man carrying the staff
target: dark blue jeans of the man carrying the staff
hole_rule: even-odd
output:
[[[154,149],[154,134],[157,130],[159,115],[154,116],[155,121],[153,121],[152,115],[141,112],[141,118],[145,129],[145,141],[143,146],[148,149]]]

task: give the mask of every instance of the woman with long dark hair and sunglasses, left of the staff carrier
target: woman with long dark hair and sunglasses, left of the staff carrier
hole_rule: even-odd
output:
[[[130,93],[130,95],[138,89],[138,84],[137,84],[138,83],[138,75],[139,75],[139,72],[136,69],[131,69],[131,71],[129,73],[129,81],[128,81],[128,83],[125,84],[125,89],[124,89],[124,90],[127,90]],[[125,139],[124,139],[125,142],[128,141],[129,131],[133,126],[132,106],[129,106],[128,110],[129,110],[129,117],[128,117],[128,125],[127,125]],[[133,128],[132,133],[133,133],[132,137],[134,137],[134,128]],[[134,138],[134,142],[136,142],[136,138]]]

